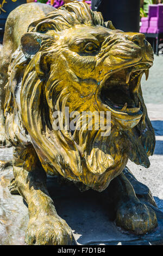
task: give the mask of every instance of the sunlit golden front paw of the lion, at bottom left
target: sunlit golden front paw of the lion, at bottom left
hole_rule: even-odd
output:
[[[76,245],[71,228],[55,216],[30,218],[25,242],[28,245]]]

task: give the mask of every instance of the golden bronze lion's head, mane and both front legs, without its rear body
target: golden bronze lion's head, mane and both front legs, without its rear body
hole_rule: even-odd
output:
[[[143,34],[115,29],[82,2],[65,4],[21,34],[10,59],[4,116],[5,136],[14,146],[11,190],[17,186],[28,204],[28,244],[75,243],[49,196],[46,173],[83,184],[83,190],[101,192],[111,182],[116,224],[135,234],[156,227],[154,210],[136,197],[122,172],[128,159],[148,168],[154,151],[140,85],[152,65]],[[53,113],[65,117],[65,107],[80,113],[74,130],[54,127]],[[83,111],[109,111],[109,135],[102,136],[95,121],[92,130],[78,129]]]

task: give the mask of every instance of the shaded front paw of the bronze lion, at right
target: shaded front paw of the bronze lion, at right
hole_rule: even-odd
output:
[[[116,214],[116,224],[136,235],[146,234],[157,225],[154,210],[139,200],[129,200],[121,204]]]

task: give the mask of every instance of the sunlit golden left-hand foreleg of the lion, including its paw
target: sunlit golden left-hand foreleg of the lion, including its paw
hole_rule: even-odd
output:
[[[55,210],[46,187],[46,173],[39,161],[33,159],[37,157],[33,149],[27,149],[27,153],[22,150],[24,149],[14,150],[13,168],[18,191],[28,204],[29,224],[26,243],[29,245],[71,245],[74,243],[71,228]],[[28,171],[30,164],[31,172]]]

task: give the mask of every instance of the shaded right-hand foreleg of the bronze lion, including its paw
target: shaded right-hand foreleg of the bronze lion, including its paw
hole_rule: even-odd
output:
[[[133,186],[122,173],[112,181],[111,194],[114,194],[116,224],[135,234],[145,234],[157,226],[154,210],[140,202]]]

